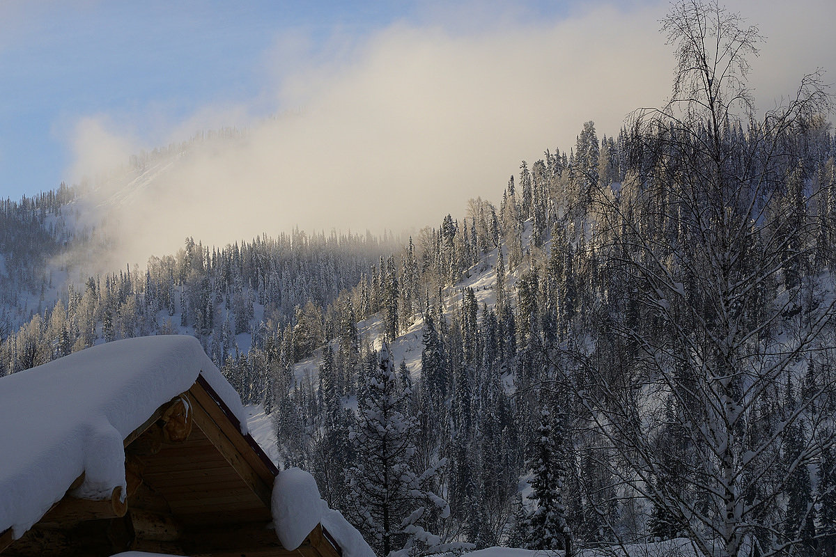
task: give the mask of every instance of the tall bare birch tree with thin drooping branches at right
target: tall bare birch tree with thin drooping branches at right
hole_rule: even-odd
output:
[[[802,516],[786,509],[793,478],[833,444],[832,387],[788,392],[834,346],[804,166],[831,98],[813,73],[757,119],[757,28],[681,0],[662,31],[678,64],[670,101],[635,113],[623,187],[592,193],[599,253],[635,310],[581,344],[568,382],[613,473],[699,553],[808,554],[816,495],[793,507]]]

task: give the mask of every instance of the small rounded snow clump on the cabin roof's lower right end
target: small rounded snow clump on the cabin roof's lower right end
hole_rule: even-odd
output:
[[[284,548],[298,548],[319,523],[339,544],[343,557],[375,557],[357,529],[328,508],[314,476],[299,468],[279,472],[273,483],[273,525]]]

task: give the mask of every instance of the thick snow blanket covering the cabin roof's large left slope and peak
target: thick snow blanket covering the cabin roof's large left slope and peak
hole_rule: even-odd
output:
[[[201,374],[247,428],[241,399],[194,337],[109,342],[0,377],[0,532],[38,522],[74,493],[125,493],[123,440]]]

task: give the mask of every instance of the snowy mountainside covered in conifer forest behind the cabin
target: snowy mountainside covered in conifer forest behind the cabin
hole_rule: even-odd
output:
[[[609,137],[584,124],[509,169],[498,203],[404,237],[187,238],[70,284],[19,330],[7,317],[0,373],[194,335],[379,554],[833,548],[831,98],[813,74],[758,118],[757,29],[690,3],[663,23],[670,104]],[[78,240],[55,225],[74,191],[3,205],[18,316]]]

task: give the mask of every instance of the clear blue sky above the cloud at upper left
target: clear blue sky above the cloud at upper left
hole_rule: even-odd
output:
[[[565,10],[528,3],[517,16]],[[0,197],[66,179],[81,118],[106,114],[150,149],[166,139],[162,122],[206,105],[270,114],[282,109],[266,94],[281,75],[265,67],[284,38],[316,53],[335,35],[354,41],[395,22],[431,22],[434,12],[404,1],[0,3]]]

